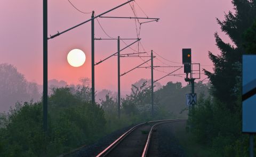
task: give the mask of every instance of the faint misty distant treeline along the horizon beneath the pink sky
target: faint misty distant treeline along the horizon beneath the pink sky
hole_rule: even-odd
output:
[[[38,85],[35,82],[29,82],[26,80],[26,76],[22,75],[18,71],[16,67],[12,64],[8,63],[2,63],[0,64],[0,111],[7,112],[10,110],[10,108],[14,108],[16,103],[23,103],[23,102],[39,102],[42,98],[42,92],[43,92],[43,86]],[[78,85],[68,85],[66,81],[64,80],[57,80],[52,79],[48,81],[48,88],[49,88],[49,96],[53,94],[54,88],[72,88],[72,90],[77,90],[78,88],[81,88],[82,86],[86,86],[90,88],[90,79],[88,78],[81,78],[80,82],[81,84]],[[145,83],[143,85],[143,83]],[[125,98],[126,95],[130,95],[132,93],[132,90],[135,90],[135,87],[141,87],[143,88],[149,88],[151,85],[150,79],[140,79],[137,82],[134,82],[134,84],[131,86],[130,92],[124,92],[122,93],[121,97]],[[198,84],[198,86],[201,86],[203,84]],[[170,86],[170,87],[169,87]],[[169,89],[168,89],[169,88]],[[175,89],[175,90],[172,90]],[[175,111],[176,115],[179,115],[179,112],[182,109],[185,109],[185,96],[184,93],[189,93],[190,86],[182,87],[182,84],[180,82],[177,82],[173,84],[172,82],[167,83],[166,86],[161,85],[159,82],[156,82],[154,91],[156,92],[157,97],[166,97],[168,100],[171,100],[169,102],[170,106],[168,107],[170,110]],[[201,88],[201,87],[199,87]],[[208,87],[209,88],[209,87]],[[179,89],[182,89],[184,92],[179,93]],[[209,93],[207,92],[207,88],[201,89],[201,93],[203,95],[208,96]],[[179,93],[179,98],[177,98],[176,94]],[[117,92],[111,91],[109,89],[102,89],[99,92],[96,93],[96,101],[100,104],[101,101],[106,101],[106,95],[109,97],[113,97],[114,100],[117,99]],[[175,98],[176,97],[176,98]],[[165,100],[159,100],[161,103],[166,103]],[[179,105],[175,105],[179,104]],[[177,108],[180,110],[178,111],[175,109],[175,106],[178,106]],[[172,112],[173,112],[172,111]]]

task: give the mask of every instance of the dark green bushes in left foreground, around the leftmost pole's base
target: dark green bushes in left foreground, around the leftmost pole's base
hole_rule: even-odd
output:
[[[0,114],[0,156],[56,156],[105,134],[99,105],[85,102],[70,88],[54,88],[49,97],[49,123],[43,131],[42,103],[18,103]]]

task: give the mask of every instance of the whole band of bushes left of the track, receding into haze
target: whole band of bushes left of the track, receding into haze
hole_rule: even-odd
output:
[[[121,120],[117,117],[114,97],[106,95],[100,104],[91,104],[89,87],[53,88],[49,96],[47,134],[42,126],[42,102],[17,103],[10,112],[0,114],[0,156],[57,156],[81,145],[94,143],[132,123],[153,120],[150,88],[145,85],[146,82],[140,87],[132,86],[131,95],[122,99]],[[199,83],[198,86],[202,87],[202,93],[207,91],[207,85]],[[189,87],[182,87],[179,82],[169,82],[156,91],[155,119],[186,117],[187,113],[179,112],[185,109],[182,93],[187,90]],[[177,100],[183,100],[180,101],[182,104],[174,103]]]

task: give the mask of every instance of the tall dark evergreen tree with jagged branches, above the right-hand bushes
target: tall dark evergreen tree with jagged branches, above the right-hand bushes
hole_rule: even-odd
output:
[[[256,19],[256,0],[233,0],[234,13],[229,11],[225,14],[225,20],[217,19],[221,30],[229,36],[232,44],[225,43],[215,32],[216,45],[220,49],[220,55],[209,52],[209,57],[214,64],[214,72],[204,69],[205,74],[210,78],[213,85],[212,93],[220,101],[227,104],[230,111],[235,110],[234,102],[237,96],[234,94],[234,87],[237,84],[236,76],[241,76],[237,70],[237,64],[242,62],[244,48],[244,32],[252,26]]]

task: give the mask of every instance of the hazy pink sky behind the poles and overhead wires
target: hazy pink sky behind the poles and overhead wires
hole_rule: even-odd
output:
[[[84,12],[95,11],[100,14],[125,0],[70,0]],[[42,84],[43,80],[43,1],[2,0],[0,1],[0,63],[11,63],[23,73],[27,80]],[[231,0],[137,0],[143,11],[149,16],[160,18],[159,22],[142,24],[140,37],[146,51],[153,49],[165,59],[157,59],[169,65],[181,65],[181,49],[192,48],[192,61],[203,65],[211,65],[208,51],[219,54],[215,46],[214,32],[220,32],[215,18],[223,20],[225,12],[233,9]],[[83,14],[74,9],[67,0],[53,0],[48,4],[49,36],[75,26],[87,19],[91,14]],[[134,3],[138,16],[146,16]],[[106,14],[108,16],[133,16],[129,4]],[[107,34],[112,37],[137,38],[135,22],[130,19],[99,19]],[[220,36],[229,42],[228,37],[220,32]],[[95,37],[107,38],[95,20]],[[131,41],[127,41],[129,43]],[[121,48],[125,44],[121,42]],[[73,48],[82,49],[86,61],[82,67],[71,67],[67,62],[67,54]],[[137,48],[136,45],[133,48]],[[115,40],[95,41],[95,62],[117,51]],[[142,49],[141,49],[142,51]],[[126,49],[122,53],[132,53]],[[147,60],[146,58],[145,60]],[[164,65],[161,61],[155,65]],[[91,24],[86,23],[74,30],[49,40],[49,79],[65,80],[76,84],[81,77],[91,78]],[[121,58],[121,73],[128,71],[142,61],[139,58]],[[212,67],[203,67],[211,70]],[[159,68],[170,72],[173,68]],[[183,73],[183,69],[176,73]],[[165,73],[155,71],[154,79]],[[136,69],[121,77],[121,89],[129,90],[131,84],[140,78],[150,78],[150,69]],[[202,76],[204,79],[205,76]],[[181,81],[184,78],[166,77],[161,84],[168,81]],[[117,88],[117,57],[95,67],[96,90]]]

